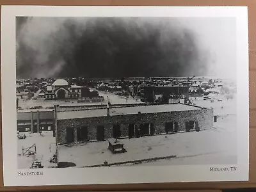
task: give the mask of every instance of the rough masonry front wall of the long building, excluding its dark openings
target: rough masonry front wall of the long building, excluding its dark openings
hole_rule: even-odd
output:
[[[154,134],[164,134],[165,122],[177,122],[179,125],[178,132],[186,131],[186,122],[194,120],[198,121],[199,129],[209,129],[213,125],[213,109],[198,108],[191,111],[173,111],[167,113],[147,113],[147,114],[134,114],[134,115],[118,115],[118,116],[101,116],[92,118],[77,118],[58,120],[58,143],[64,144],[67,140],[67,127],[87,126],[88,127],[88,140],[97,140],[97,126],[104,125],[105,139],[113,137],[113,125],[119,124],[121,137],[128,136],[129,124],[154,124]],[[74,131],[74,141],[77,141],[76,131]]]

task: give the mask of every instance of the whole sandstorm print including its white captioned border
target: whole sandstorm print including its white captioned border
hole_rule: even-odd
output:
[[[4,186],[248,180],[247,7],[1,9]]]

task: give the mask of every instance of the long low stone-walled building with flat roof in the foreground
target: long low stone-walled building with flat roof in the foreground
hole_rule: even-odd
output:
[[[58,111],[58,144],[200,131],[213,125],[213,109],[188,104],[120,106]]]

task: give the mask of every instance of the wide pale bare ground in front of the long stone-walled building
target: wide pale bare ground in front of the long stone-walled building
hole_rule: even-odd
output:
[[[119,140],[127,152],[112,154],[108,141],[58,147],[59,161],[77,167],[118,163],[152,157],[177,156],[147,164],[228,164],[236,163],[236,116],[218,119],[213,128],[200,132],[182,132]],[[228,141],[228,142],[227,142]],[[131,165],[131,164],[130,164]]]

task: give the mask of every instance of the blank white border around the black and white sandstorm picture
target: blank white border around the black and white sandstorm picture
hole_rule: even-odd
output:
[[[122,184],[248,180],[249,89],[247,7],[2,6],[1,70],[4,186]],[[237,172],[209,172],[209,166],[141,166],[45,169],[44,175],[17,175],[15,106],[15,16],[44,17],[236,17],[237,33]],[[220,166],[220,165],[219,165]],[[225,164],[224,166],[228,166]],[[26,171],[26,170],[24,170]]]

